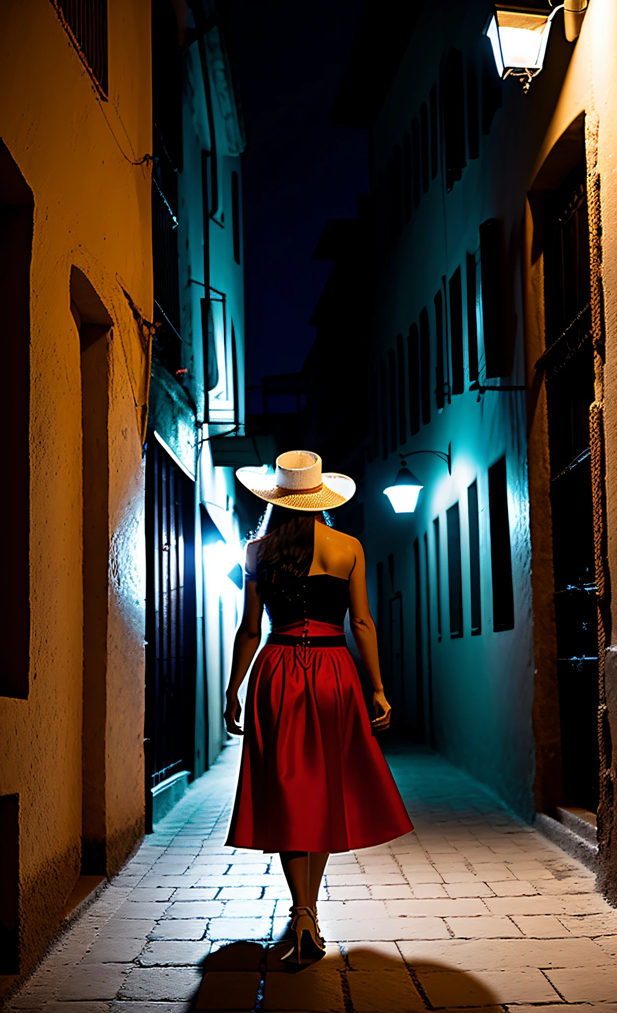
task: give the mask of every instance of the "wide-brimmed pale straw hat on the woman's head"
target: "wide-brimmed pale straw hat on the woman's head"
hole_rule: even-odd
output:
[[[356,482],[335,471],[321,473],[321,458],[310,450],[290,450],[277,458],[277,471],[238,468],[238,481],[276,506],[319,511],[342,506],[356,492]]]

